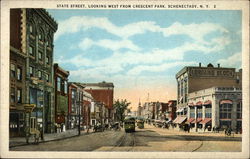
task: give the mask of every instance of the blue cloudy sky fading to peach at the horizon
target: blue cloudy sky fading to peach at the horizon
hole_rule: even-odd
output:
[[[54,62],[69,81],[113,82],[133,110],[176,99],[175,74],[209,63],[241,68],[241,11],[48,10],[57,21]]]

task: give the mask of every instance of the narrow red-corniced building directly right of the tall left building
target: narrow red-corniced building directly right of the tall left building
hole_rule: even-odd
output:
[[[54,64],[55,123],[61,126],[62,131],[66,130],[68,117],[68,76],[69,71]]]

